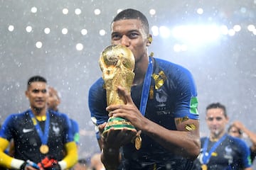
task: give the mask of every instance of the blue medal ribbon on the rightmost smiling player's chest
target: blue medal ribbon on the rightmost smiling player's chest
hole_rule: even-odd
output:
[[[215,151],[215,149],[217,149],[218,145],[220,145],[220,143],[223,142],[223,140],[225,140],[226,136],[227,136],[227,134],[223,135],[223,137],[221,137],[220,140],[215,142],[213,147],[210,148],[210,151],[206,155],[208,142],[209,142],[209,138],[207,137],[206,142],[203,144],[203,164],[208,164],[211,154]]]

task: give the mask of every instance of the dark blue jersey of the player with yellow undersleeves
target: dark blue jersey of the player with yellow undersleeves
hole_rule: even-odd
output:
[[[14,157],[16,159],[33,162],[41,162],[46,155],[53,155],[56,159],[62,160],[64,157],[65,143],[73,141],[73,134],[70,129],[70,120],[67,115],[55,111],[49,111],[50,129],[48,133],[49,152],[42,154],[39,151],[41,147],[41,138],[36,131],[29,111],[23,113],[11,114],[6,118],[1,127],[0,137],[11,140],[14,139]],[[45,121],[37,121],[44,130]]]

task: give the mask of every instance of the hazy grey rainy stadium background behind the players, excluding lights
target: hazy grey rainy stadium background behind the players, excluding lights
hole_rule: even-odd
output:
[[[256,32],[247,29],[256,24],[255,0],[218,1],[5,1],[0,0],[0,123],[10,113],[28,108],[24,95],[28,78],[40,74],[61,94],[60,111],[78,120],[80,125],[80,157],[99,152],[94,127],[90,121],[87,94],[90,85],[101,76],[100,52],[110,45],[110,22],[117,10],[137,8],[149,19],[150,26],[213,25],[232,29],[235,35],[220,35],[211,42],[184,42],[171,33],[168,38],[153,36],[149,52],[188,68],[198,87],[201,135],[208,134],[205,108],[220,102],[227,106],[230,123],[240,120],[256,132]],[[36,13],[31,8],[36,7]],[[63,14],[63,8],[68,14]],[[81,13],[75,14],[80,8]],[[95,9],[100,15],[95,15]],[[155,9],[151,15],[149,11]],[[203,13],[198,14],[198,8]],[[10,31],[9,26],[14,26]],[[31,26],[31,32],[26,27]],[[44,33],[50,28],[50,33]],[[62,29],[68,33],[63,34]],[[82,35],[81,30],[87,29]],[[105,30],[105,35],[99,31]],[[193,35],[193,33],[188,33]],[[208,33],[205,36],[210,35]],[[36,47],[36,42],[42,47]],[[81,43],[82,50],[76,45]],[[186,44],[186,50],[175,52],[174,45]],[[246,138],[246,137],[245,137]]]

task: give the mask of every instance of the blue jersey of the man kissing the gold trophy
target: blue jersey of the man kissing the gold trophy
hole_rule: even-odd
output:
[[[132,86],[132,100],[140,106],[142,84]],[[198,101],[193,77],[187,69],[165,60],[154,58],[149,98],[145,117],[169,130],[176,130],[174,118],[198,119]],[[104,81],[98,79],[90,87],[89,108],[96,125],[107,122],[107,100]],[[190,169],[188,159],[174,155],[142,132],[142,148],[134,144],[122,148],[122,169]]]

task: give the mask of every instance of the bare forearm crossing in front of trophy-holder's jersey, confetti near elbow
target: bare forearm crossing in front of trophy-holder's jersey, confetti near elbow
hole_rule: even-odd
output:
[[[154,139],[170,152],[181,155],[186,159],[196,159],[198,157],[201,149],[198,123],[196,124],[197,129],[191,131],[168,130],[151,121],[146,124],[142,129],[142,133]]]

